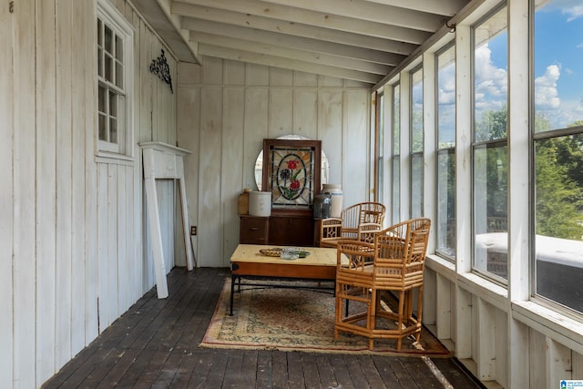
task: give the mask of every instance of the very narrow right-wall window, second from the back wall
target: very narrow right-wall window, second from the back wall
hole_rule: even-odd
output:
[[[393,109],[392,109],[392,122],[393,131],[391,133],[393,140],[393,171],[392,171],[392,203],[391,203],[391,215],[393,218],[393,223],[398,223],[401,220],[401,142],[399,138],[401,137],[401,87],[399,84],[395,84],[393,87]]]

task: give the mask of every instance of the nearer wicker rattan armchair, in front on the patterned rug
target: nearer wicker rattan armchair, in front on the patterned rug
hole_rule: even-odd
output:
[[[395,339],[397,351],[410,334],[419,342],[430,226],[428,219],[406,220],[376,233],[374,243],[338,242],[335,339],[341,331],[366,336],[370,349],[375,339]],[[341,264],[343,255],[349,258],[348,265]],[[414,289],[418,290],[416,309]],[[386,291],[396,297],[395,312],[382,304],[382,292]],[[353,311],[357,312],[349,312],[348,302],[354,302]]]

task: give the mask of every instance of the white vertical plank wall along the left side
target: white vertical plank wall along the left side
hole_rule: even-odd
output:
[[[176,144],[176,94],[148,71],[164,48],[133,6],[133,160],[97,158],[96,0],[0,6],[0,387],[34,388],[154,286],[138,143]],[[166,265],[175,184],[160,181]]]

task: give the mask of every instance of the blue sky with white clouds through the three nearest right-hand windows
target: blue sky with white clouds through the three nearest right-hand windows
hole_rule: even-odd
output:
[[[538,3],[543,6],[537,9],[535,21],[536,112],[544,114],[554,128],[565,128],[583,120],[583,1]],[[506,19],[506,15],[499,17]],[[489,23],[496,26],[496,21]],[[476,49],[478,110],[497,110],[506,104],[507,49],[506,31]],[[443,77],[454,77],[454,73],[447,71]],[[444,80],[440,87],[440,103],[453,104],[455,84]],[[448,127],[445,138],[453,140],[453,122],[446,119],[443,125]]]

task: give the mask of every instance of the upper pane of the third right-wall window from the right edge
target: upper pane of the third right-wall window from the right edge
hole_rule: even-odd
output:
[[[455,146],[455,46],[437,56],[437,148]]]

